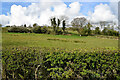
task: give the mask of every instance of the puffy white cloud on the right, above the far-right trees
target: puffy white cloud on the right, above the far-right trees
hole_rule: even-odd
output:
[[[94,12],[89,13],[89,16],[92,22],[116,20],[116,16],[112,13],[110,7],[107,4],[97,5]]]

